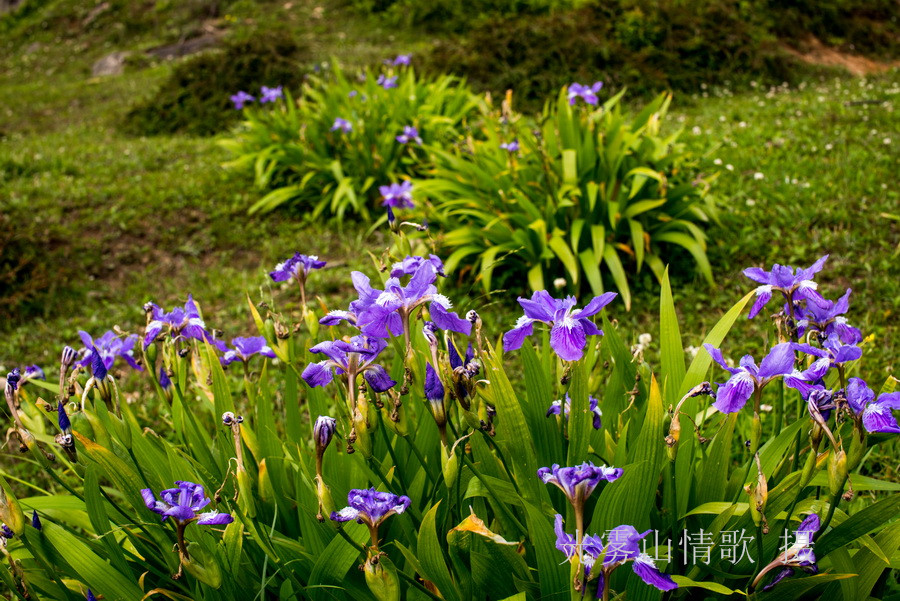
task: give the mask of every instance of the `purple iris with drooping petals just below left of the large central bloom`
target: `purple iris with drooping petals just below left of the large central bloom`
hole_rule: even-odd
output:
[[[330,384],[335,373],[346,373],[352,377],[361,373],[375,392],[385,392],[397,383],[384,367],[375,363],[375,359],[386,347],[386,341],[369,336],[354,336],[349,341],[320,342],[309,350],[328,358],[310,363],[301,376],[307,384],[316,387]]]

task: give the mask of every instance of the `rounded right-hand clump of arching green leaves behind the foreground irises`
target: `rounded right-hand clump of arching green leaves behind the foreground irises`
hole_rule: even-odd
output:
[[[600,294],[606,273],[630,307],[627,274],[646,265],[661,281],[668,256],[683,249],[711,281],[703,232],[715,216],[711,178],[678,131],[661,131],[671,96],[634,115],[622,96],[591,110],[563,89],[536,127],[495,118],[483,140],[434,149],[434,168],[416,188],[433,203],[428,218],[443,232],[448,268],[471,265],[485,291],[525,281],[542,290],[563,278],[557,288]]]

